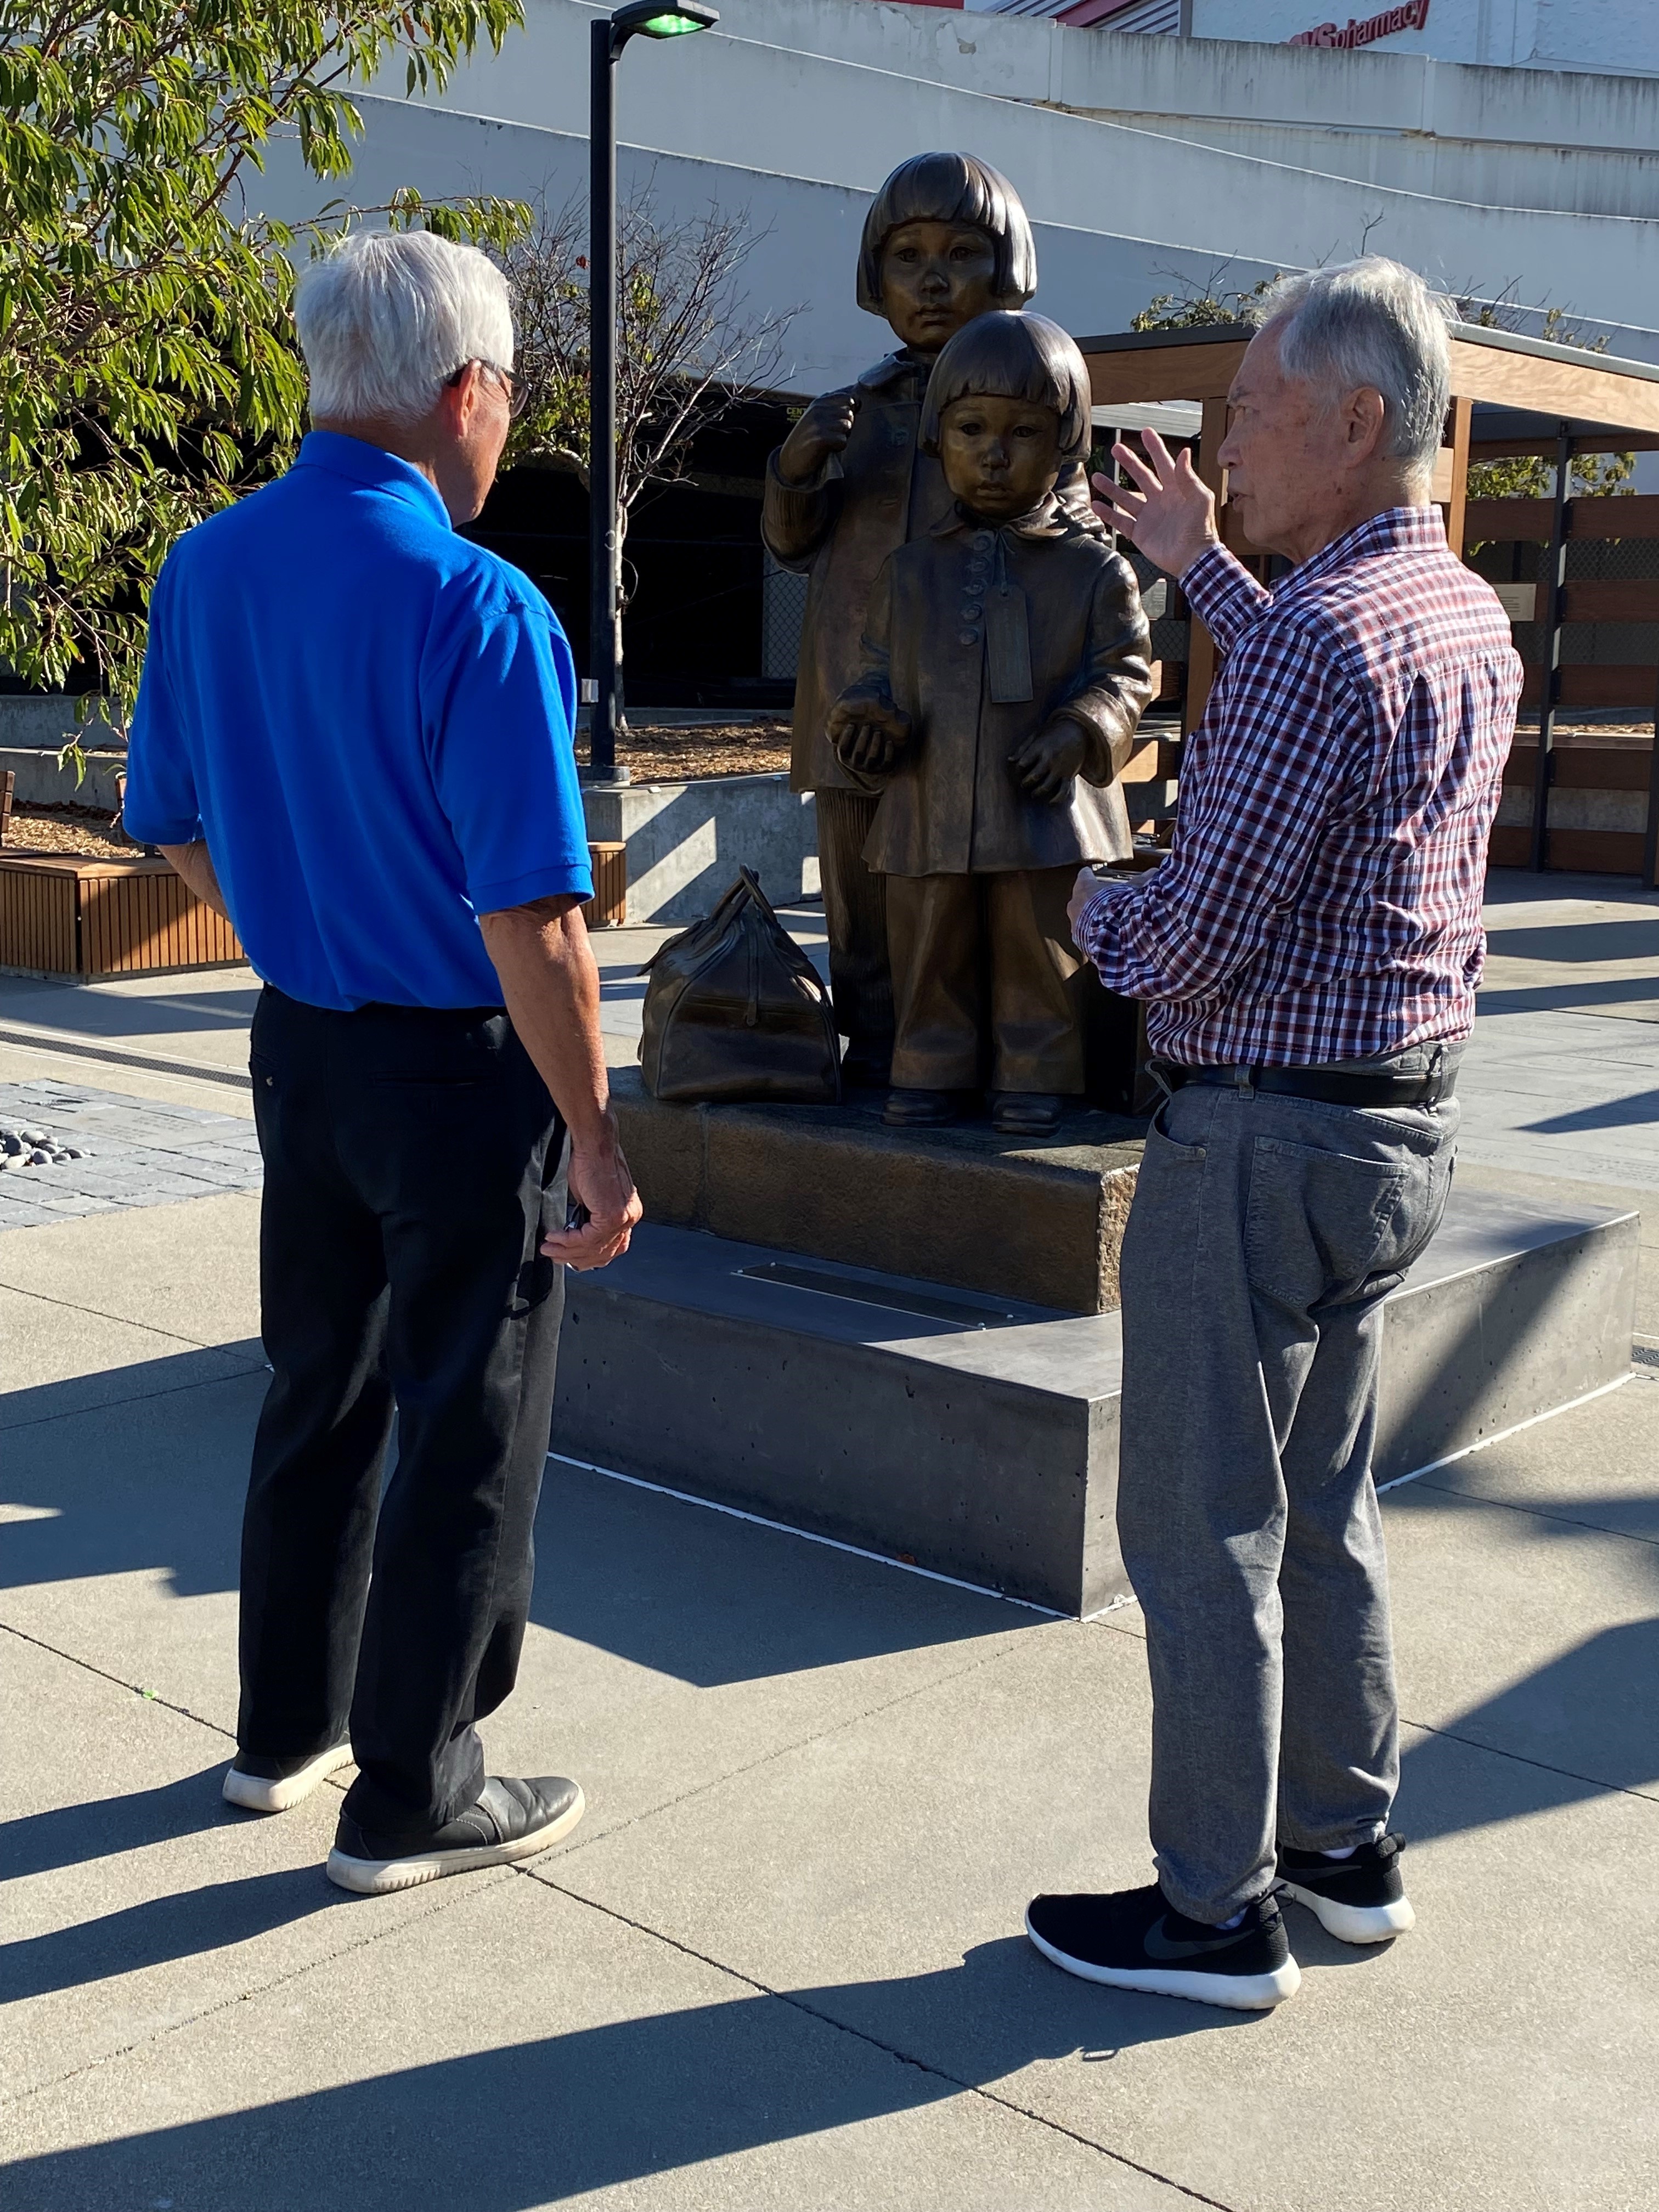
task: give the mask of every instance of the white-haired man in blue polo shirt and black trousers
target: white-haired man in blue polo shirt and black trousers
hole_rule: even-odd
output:
[[[429,232],[356,237],[296,319],[316,429],[161,571],[126,827],[265,984],[274,1380],[226,1798],[285,1812],[354,1759],[327,1871],[380,1893],[582,1816],[573,1781],[484,1776],[473,1723],[524,1639],[562,1265],[624,1252],[639,1199],[580,914],[571,650],[453,529],[507,442],[507,285]]]

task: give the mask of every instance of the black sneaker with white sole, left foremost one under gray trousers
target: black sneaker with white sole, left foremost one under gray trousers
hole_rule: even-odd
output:
[[[1104,1898],[1033,1898],[1026,1936],[1084,1982],[1194,1997],[1234,2013],[1261,2013],[1301,1986],[1285,1918],[1270,1896],[1248,1905],[1237,1929],[1188,1920],[1157,1882]]]

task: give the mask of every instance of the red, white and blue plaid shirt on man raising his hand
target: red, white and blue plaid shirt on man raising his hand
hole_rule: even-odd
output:
[[[1515,734],[1509,617],[1394,507],[1265,591],[1223,546],[1181,577],[1223,657],[1181,750],[1175,845],[1077,945],[1181,1066],[1316,1066],[1467,1037],[1486,836]]]

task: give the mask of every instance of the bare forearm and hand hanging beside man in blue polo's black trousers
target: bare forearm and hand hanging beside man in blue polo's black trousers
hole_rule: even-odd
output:
[[[571,1130],[571,1201],[586,1208],[577,1228],[542,1239],[546,1259],[604,1267],[628,1250],[644,1208],[611,1113],[611,1077],[599,1035],[599,969],[575,896],[480,914],[484,951],[495,962],[502,1000],[524,1051]]]

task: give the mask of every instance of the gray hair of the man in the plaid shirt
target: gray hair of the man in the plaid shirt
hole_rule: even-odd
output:
[[[1416,270],[1365,254],[1334,270],[1281,276],[1256,310],[1279,332],[1279,365],[1298,383],[1383,394],[1383,451],[1422,476],[1433,469],[1451,403],[1455,310]]]

